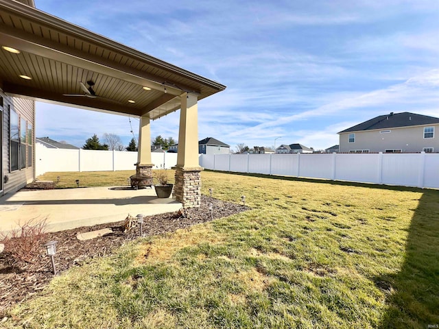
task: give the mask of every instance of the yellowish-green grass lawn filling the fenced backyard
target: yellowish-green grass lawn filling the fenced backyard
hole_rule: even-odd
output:
[[[85,182],[88,175],[106,174],[71,177]],[[124,184],[130,174],[108,173],[121,175]],[[40,179],[57,175],[67,177]],[[219,199],[239,202],[246,195],[252,210],[134,241],[112,257],[90,260],[14,308],[22,321],[1,325],[439,324],[439,191],[209,171],[202,172],[202,182],[202,193],[213,188]]]

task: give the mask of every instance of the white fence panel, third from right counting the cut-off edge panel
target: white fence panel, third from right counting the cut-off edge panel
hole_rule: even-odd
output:
[[[381,154],[335,154],[335,180],[379,183]]]

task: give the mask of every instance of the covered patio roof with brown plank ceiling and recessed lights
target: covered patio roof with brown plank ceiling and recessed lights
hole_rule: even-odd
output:
[[[0,0],[0,40],[0,88],[12,96],[158,119],[184,93],[226,88],[14,0]],[[85,95],[90,81],[97,97],[66,96]]]

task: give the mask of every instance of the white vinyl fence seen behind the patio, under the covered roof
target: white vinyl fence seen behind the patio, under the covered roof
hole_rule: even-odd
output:
[[[89,149],[49,149],[36,144],[35,171],[117,171],[134,170],[137,152],[93,151]],[[176,153],[152,152],[154,168],[169,169],[177,164]]]

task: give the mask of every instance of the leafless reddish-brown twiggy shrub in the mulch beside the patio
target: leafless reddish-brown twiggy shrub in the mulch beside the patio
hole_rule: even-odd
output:
[[[46,235],[46,219],[29,219],[20,228],[11,230],[9,234],[0,232],[1,242],[5,245],[5,252],[10,252],[17,260],[32,263],[32,257],[40,254],[41,244]]]

